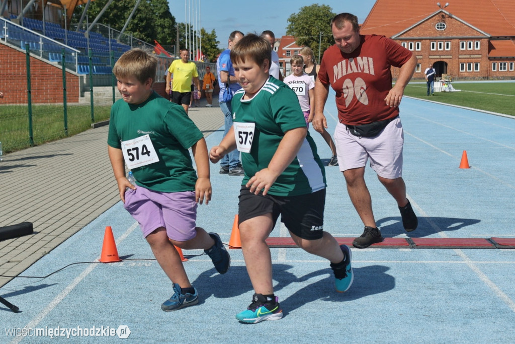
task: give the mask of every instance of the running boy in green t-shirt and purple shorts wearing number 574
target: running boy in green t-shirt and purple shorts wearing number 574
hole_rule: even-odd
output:
[[[113,74],[122,99],[111,108],[108,152],[124,208],[173,283],[173,296],[161,305],[169,311],[198,303],[174,245],[203,249],[219,273],[227,272],[230,257],[216,233],[196,226],[197,203],[211,200],[207,145],[184,109],[152,90],[157,65],[155,56],[139,48],[116,61]],[[125,177],[125,163],[136,186]]]

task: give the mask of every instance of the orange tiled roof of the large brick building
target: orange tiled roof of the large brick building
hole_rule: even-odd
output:
[[[513,0],[448,0],[445,11],[493,37],[515,37]],[[361,25],[363,35],[393,37],[439,12],[435,0],[377,0]]]

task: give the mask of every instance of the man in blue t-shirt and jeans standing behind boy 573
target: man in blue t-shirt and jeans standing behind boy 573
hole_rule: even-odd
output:
[[[241,31],[232,31],[229,36],[229,47],[223,51],[216,62],[216,73],[220,81],[220,94],[218,95],[218,103],[220,109],[225,115],[224,137],[232,127],[232,107],[231,100],[234,92],[241,89],[236,77],[234,76],[234,68],[232,67],[230,52],[234,44],[243,38]],[[225,155],[220,161],[220,174],[244,175],[242,164],[239,161],[239,152],[234,150]]]

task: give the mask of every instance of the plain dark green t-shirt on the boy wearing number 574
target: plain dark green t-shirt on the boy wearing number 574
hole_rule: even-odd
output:
[[[203,135],[182,106],[156,92],[141,104],[113,104],[108,145],[122,149],[121,141],[147,134],[159,161],[132,169],[136,184],[161,192],[195,191],[197,173],[188,149]]]

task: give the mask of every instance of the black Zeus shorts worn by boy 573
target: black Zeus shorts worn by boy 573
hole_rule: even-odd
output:
[[[323,235],[325,189],[299,196],[253,194],[242,186],[239,192],[238,225],[256,216],[271,214],[273,225],[279,215],[288,231],[306,240],[317,240]]]

